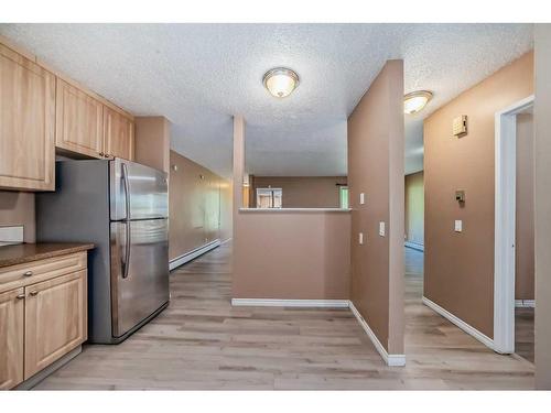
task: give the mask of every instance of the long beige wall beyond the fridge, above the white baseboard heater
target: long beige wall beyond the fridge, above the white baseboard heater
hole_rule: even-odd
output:
[[[179,153],[170,152],[171,260],[231,233],[229,182]],[[176,166],[174,171],[172,166]],[[229,238],[229,237],[228,237]]]

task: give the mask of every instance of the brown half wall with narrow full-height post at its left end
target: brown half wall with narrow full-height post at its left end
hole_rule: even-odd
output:
[[[349,213],[240,211],[244,165],[245,120],[238,116],[234,118],[233,296],[347,300]]]

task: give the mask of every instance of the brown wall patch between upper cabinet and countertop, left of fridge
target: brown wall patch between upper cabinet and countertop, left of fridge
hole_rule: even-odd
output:
[[[23,241],[35,241],[34,194],[0,191],[0,226],[23,225]]]

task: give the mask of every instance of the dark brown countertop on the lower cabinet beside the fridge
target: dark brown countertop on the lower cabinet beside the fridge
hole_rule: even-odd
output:
[[[18,243],[0,247],[0,268],[65,256],[94,248],[93,243]]]

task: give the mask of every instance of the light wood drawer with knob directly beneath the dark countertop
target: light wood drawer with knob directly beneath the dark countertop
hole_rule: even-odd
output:
[[[0,269],[0,293],[86,269],[86,252]]]

